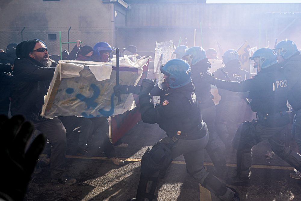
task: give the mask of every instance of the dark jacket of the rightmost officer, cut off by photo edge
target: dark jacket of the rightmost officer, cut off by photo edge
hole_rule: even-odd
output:
[[[296,52],[288,60],[280,63],[287,79],[287,101],[294,110],[301,109],[301,54]]]

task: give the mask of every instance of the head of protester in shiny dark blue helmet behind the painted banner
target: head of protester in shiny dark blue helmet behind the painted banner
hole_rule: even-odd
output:
[[[92,61],[108,62],[110,54],[113,52],[112,47],[107,42],[98,42],[93,47]]]

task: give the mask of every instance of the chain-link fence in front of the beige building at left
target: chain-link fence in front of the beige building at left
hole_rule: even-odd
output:
[[[47,28],[0,28],[0,49],[6,49],[10,43],[20,43],[24,40],[40,39],[45,42],[50,55],[60,54],[59,32],[62,42],[81,40],[83,45],[94,46],[97,42],[113,42],[114,32],[110,28],[73,28],[71,27],[47,27]],[[68,31],[69,30],[69,31]],[[75,44],[63,44],[62,49],[69,52]]]

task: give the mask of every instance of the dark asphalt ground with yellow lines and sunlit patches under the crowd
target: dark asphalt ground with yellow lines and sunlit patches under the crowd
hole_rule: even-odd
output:
[[[25,200],[116,200],[125,201],[135,197],[140,176],[141,156],[147,147],[165,137],[157,124],[140,123],[124,137],[126,149],[116,149],[119,158],[125,160],[124,166],[113,165],[105,157],[85,158],[67,155],[67,174],[77,179],[73,186],[54,185],[50,182],[49,165],[42,173],[34,174],[26,193]],[[222,146],[222,143],[221,143]],[[224,147],[223,147],[224,149]],[[270,150],[267,141],[253,147],[253,166],[251,168],[251,187],[235,187],[241,200],[286,201],[301,200],[297,180],[290,178],[293,171],[277,155],[265,159]],[[292,143],[292,149],[296,146]],[[68,154],[68,153],[67,153]],[[229,174],[235,174],[236,154],[225,150]],[[205,154],[205,165],[209,171],[213,165]],[[185,167],[183,156],[176,158],[170,165],[164,179],[157,186],[158,200],[216,201],[215,195],[201,187],[191,178]]]

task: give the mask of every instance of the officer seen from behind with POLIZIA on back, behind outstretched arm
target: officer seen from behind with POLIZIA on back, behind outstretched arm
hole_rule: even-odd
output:
[[[227,50],[222,59],[225,67],[214,72],[221,80],[243,81],[249,78],[249,73],[240,68],[238,53],[234,49]],[[241,123],[244,106],[243,94],[218,88],[221,100],[216,106],[216,132],[226,147],[231,146],[234,134]]]

